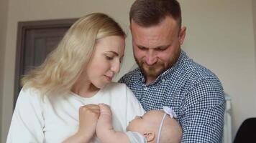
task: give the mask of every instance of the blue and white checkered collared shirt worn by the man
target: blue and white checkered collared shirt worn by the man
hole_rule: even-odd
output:
[[[209,69],[188,59],[184,51],[151,84],[145,84],[138,68],[119,82],[132,89],[146,111],[171,107],[183,128],[181,142],[221,142],[225,109],[221,82]]]

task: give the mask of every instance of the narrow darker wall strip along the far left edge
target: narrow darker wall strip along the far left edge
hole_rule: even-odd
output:
[[[2,127],[2,102],[3,102],[3,77],[4,77],[4,52],[6,44],[6,27],[7,27],[7,11],[8,1],[0,1],[0,129]],[[0,130],[1,139],[1,130]]]

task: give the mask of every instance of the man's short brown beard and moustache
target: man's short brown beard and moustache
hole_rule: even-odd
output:
[[[170,63],[165,66],[163,61],[160,60],[158,60],[155,64],[149,66],[143,60],[138,60],[136,58],[134,59],[145,77],[153,77],[155,79],[171,66]]]

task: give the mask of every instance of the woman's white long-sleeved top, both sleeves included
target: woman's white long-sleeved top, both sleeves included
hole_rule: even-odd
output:
[[[63,142],[78,131],[78,110],[86,104],[108,104],[116,131],[125,132],[142,106],[125,84],[111,82],[91,98],[73,92],[38,96],[35,89],[22,89],[17,99],[7,142]],[[93,143],[99,142],[94,139]]]

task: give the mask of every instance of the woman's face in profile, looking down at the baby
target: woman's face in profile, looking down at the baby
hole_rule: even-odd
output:
[[[124,37],[106,36],[96,42],[91,60],[86,66],[86,77],[95,87],[101,89],[111,82],[120,69],[124,56]]]

